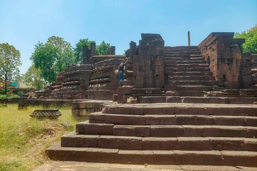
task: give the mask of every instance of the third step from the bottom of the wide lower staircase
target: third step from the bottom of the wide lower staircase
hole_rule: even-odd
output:
[[[257,136],[257,127],[217,125],[115,125],[95,124],[85,121],[76,124],[76,132],[82,134],[106,134],[114,136],[139,137],[201,136],[255,138]]]

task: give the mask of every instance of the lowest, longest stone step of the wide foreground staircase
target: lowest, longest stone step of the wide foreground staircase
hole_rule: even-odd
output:
[[[50,159],[58,161],[257,166],[257,152],[253,151],[122,150],[61,147],[57,143],[47,148],[46,153]]]

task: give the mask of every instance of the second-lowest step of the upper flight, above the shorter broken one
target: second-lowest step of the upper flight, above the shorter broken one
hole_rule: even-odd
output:
[[[167,91],[217,91],[218,86],[165,85]]]

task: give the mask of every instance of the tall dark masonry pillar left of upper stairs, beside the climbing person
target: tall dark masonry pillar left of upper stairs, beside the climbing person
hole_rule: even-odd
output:
[[[133,88],[163,88],[164,40],[159,34],[142,33],[141,37],[139,55],[133,58]],[[131,53],[134,52],[130,51],[129,56]]]

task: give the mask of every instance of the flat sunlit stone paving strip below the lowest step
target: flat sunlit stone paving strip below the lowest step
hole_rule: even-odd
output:
[[[255,167],[243,166],[196,166],[196,165],[135,165],[135,164],[110,164],[88,163],[78,161],[56,161],[45,164],[34,171],[256,171]]]

